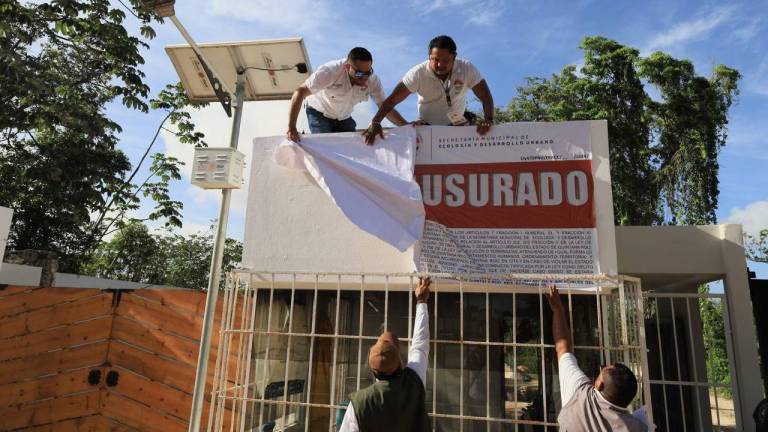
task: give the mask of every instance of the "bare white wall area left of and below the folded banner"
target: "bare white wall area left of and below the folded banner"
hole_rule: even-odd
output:
[[[308,272],[408,272],[410,251],[399,252],[360,230],[309,174],[277,166],[282,137],[253,148],[243,267]]]

